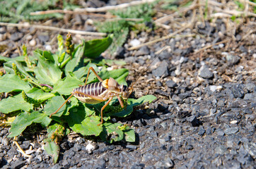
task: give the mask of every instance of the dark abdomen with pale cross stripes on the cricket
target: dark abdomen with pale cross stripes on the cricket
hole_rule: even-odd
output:
[[[102,82],[95,82],[92,84],[86,84],[86,86],[78,87],[74,89],[74,92],[79,91],[84,94],[89,94],[93,96],[99,96],[106,90],[105,87],[103,87]],[[86,97],[83,94],[75,94],[78,97]]]

